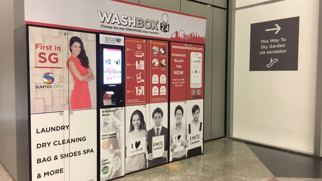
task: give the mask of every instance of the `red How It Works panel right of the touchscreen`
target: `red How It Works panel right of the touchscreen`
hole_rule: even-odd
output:
[[[146,104],[146,40],[125,38],[125,105]]]

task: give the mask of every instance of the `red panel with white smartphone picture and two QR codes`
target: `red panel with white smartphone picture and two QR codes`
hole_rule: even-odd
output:
[[[204,99],[204,45],[187,47],[187,100]]]

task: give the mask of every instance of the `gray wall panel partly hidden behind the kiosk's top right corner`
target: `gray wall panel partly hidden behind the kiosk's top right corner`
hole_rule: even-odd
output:
[[[198,10],[198,11],[196,11]],[[181,12],[207,18],[204,79],[204,140],[211,139],[211,84],[213,51],[213,7],[191,1],[181,1]]]

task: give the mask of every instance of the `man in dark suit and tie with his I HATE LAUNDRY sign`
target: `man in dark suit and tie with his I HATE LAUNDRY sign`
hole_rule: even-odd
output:
[[[156,108],[152,113],[154,127],[147,132],[148,167],[154,167],[167,162],[168,129],[161,125],[163,111]]]

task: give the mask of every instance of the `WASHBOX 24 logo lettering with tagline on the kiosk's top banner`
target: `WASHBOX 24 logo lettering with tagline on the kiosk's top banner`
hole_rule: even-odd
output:
[[[99,15],[99,20],[101,23],[105,22],[105,23],[111,24],[111,25],[118,24],[120,26],[126,26],[126,28],[125,28],[126,31],[152,33],[152,32],[146,32],[145,30],[133,29],[133,28],[128,28],[128,27],[145,28],[147,30],[159,31],[159,29],[158,29],[159,21],[157,21],[157,20],[150,20],[150,19],[144,20],[139,17],[132,17],[132,16],[127,16],[127,15],[121,15],[119,17],[118,14],[113,14],[113,13],[108,14],[107,12],[102,13],[101,11],[97,11],[97,13]],[[167,23],[168,18],[169,18],[168,15],[165,13],[161,15],[162,22],[160,23],[160,30],[165,33],[169,31],[169,27],[170,27],[169,23]],[[102,24],[101,27],[105,27],[105,25]],[[113,29],[114,27],[107,26],[107,28]]]

